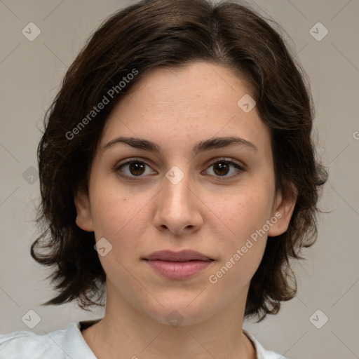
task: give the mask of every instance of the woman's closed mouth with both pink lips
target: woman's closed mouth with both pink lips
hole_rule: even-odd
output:
[[[204,271],[212,264],[212,259],[194,250],[172,252],[162,250],[142,258],[156,273],[172,280],[190,278]]]

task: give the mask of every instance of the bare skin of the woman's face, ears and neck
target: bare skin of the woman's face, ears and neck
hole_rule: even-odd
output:
[[[256,108],[245,113],[238,107],[245,94],[250,88],[226,67],[193,62],[157,68],[107,119],[88,195],[79,192],[74,198],[76,224],[112,245],[99,256],[107,274],[104,318],[82,332],[97,358],[256,358],[242,332],[250,279],[266,241],[276,241],[267,236],[287,230],[295,200],[275,192],[269,129]],[[155,142],[161,154],[128,144],[103,149],[120,135]],[[215,136],[241,137],[257,151],[231,146],[191,154],[196,142]],[[246,170],[238,172],[233,165],[221,170],[215,165],[221,157]],[[126,158],[149,165],[140,177],[130,165],[122,172],[114,169]],[[172,166],[184,175],[177,184],[165,177]],[[210,283],[209,276],[278,212],[282,217],[268,233]],[[215,261],[191,278],[170,280],[142,260],[165,249],[197,250]],[[184,319],[177,327],[166,320],[174,310]]]

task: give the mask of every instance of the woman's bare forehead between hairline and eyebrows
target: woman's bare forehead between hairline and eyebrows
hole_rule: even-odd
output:
[[[194,62],[158,67],[130,89],[107,118],[101,144],[128,135],[180,147],[211,137],[239,136],[270,150],[269,130],[256,107],[238,106],[249,86],[226,67]],[[252,96],[251,96],[252,97]]]

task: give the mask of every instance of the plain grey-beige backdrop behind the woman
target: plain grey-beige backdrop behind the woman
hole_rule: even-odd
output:
[[[34,310],[45,334],[69,322],[100,318],[74,304],[43,308],[55,294],[48,269],[36,264],[29,246],[36,238],[38,203],[36,146],[43,115],[90,32],[132,1],[0,0],[0,333],[31,330],[22,318]],[[316,104],[318,153],[330,170],[320,202],[318,241],[294,268],[298,295],[277,316],[245,323],[265,348],[287,358],[359,358],[359,122],[358,0],[250,1],[283,26],[309,78]],[[41,34],[29,41],[22,29],[34,22]],[[310,29],[329,31],[317,41]],[[323,29],[312,31],[322,36]],[[286,35],[285,35],[286,36]],[[317,310],[321,312],[317,312]],[[318,316],[317,316],[318,315]],[[323,325],[325,316],[329,318]],[[312,318],[310,320],[310,318]],[[320,329],[315,327],[323,325]]]

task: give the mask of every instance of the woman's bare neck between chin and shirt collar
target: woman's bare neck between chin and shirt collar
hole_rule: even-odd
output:
[[[226,309],[205,319],[199,318],[200,313],[189,325],[168,320],[172,323],[169,325],[165,318],[164,323],[159,323],[140,313],[120,295],[109,295],[114,293],[112,289],[111,283],[107,283],[110,292],[107,292],[104,318],[82,332],[99,359],[256,358],[255,348],[242,330],[245,300],[241,305],[236,297]],[[203,312],[204,315],[208,313]],[[172,313],[174,319],[182,318],[180,314],[177,316]]]

